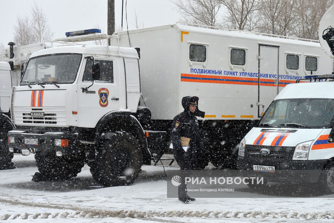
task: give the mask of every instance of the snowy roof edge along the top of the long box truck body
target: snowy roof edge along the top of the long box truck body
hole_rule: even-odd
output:
[[[174,28],[177,30],[177,32],[186,31],[186,32],[202,33],[202,34],[207,34],[207,35],[218,35],[218,36],[226,36],[226,37],[231,37],[231,38],[256,40],[256,41],[260,41],[261,43],[290,44],[290,45],[321,48],[320,43],[317,40],[308,40],[308,39],[302,39],[302,38],[298,38],[299,40],[297,40],[297,38],[289,37],[289,36],[280,36],[281,37],[280,38],[278,37],[278,35],[277,37],[274,37],[274,36],[268,36],[271,34],[266,34],[266,33],[248,32],[245,30],[236,30],[236,29],[228,30],[227,28],[225,29],[221,27],[210,28],[214,26],[198,27],[194,25],[202,26],[200,24],[178,22],[176,24],[161,25],[161,26],[141,28],[141,29],[133,29],[133,30],[129,30],[129,34],[159,30],[159,29]],[[114,35],[117,35],[117,34],[127,35],[128,32],[125,30],[125,31],[117,31],[114,33]],[[291,38],[291,39],[286,39],[286,38]]]

